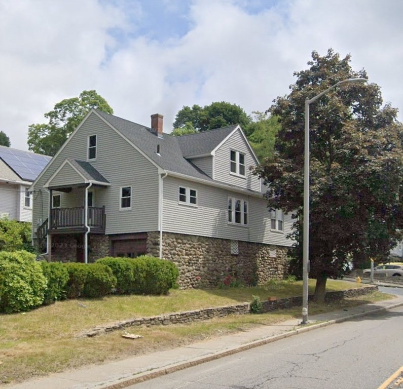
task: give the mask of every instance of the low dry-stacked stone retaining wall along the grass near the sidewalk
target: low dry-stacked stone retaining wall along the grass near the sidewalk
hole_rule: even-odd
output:
[[[361,288],[347,289],[335,292],[327,292],[325,301],[336,301],[342,298],[361,296],[378,290],[378,286],[371,285]],[[313,296],[309,296],[310,300]],[[276,301],[263,301],[262,313],[271,312],[276,309],[290,308],[293,306],[302,305],[302,297],[289,297]],[[209,320],[213,318],[222,318],[228,315],[246,315],[250,314],[250,304],[244,302],[243,304],[219,306],[214,308],[205,308],[198,310],[189,310],[187,312],[172,313],[166,315],[152,316],[147,318],[130,319],[104,327],[94,327],[89,331],[79,334],[79,337],[93,337],[96,335],[104,334],[111,331],[121,330],[127,327],[139,326],[155,326],[155,325],[171,325],[171,324],[184,324],[193,323],[201,320]]]

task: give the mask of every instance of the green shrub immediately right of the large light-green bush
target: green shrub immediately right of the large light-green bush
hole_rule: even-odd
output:
[[[52,304],[55,300],[66,298],[66,284],[69,279],[64,263],[41,261],[42,271],[48,281],[44,304]]]

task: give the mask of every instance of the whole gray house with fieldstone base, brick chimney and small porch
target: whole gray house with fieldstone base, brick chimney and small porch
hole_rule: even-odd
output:
[[[291,215],[267,209],[240,126],[173,137],[151,118],[92,109],[34,181],[50,260],[150,254],[177,264],[181,287],[283,277]]]

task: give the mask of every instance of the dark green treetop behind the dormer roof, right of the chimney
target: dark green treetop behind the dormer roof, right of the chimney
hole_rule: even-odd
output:
[[[245,128],[250,122],[250,116],[239,105],[217,101],[205,105],[203,108],[196,104],[192,108],[184,106],[176,114],[173,128],[183,128],[187,123],[192,123],[193,128],[198,132],[233,124],[239,124]]]

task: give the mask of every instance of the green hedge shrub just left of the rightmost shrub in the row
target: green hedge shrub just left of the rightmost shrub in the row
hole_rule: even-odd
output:
[[[133,267],[130,259],[105,257],[98,259],[96,263],[108,265],[112,269],[112,273],[116,277],[116,292],[118,294],[134,293],[134,275]]]

